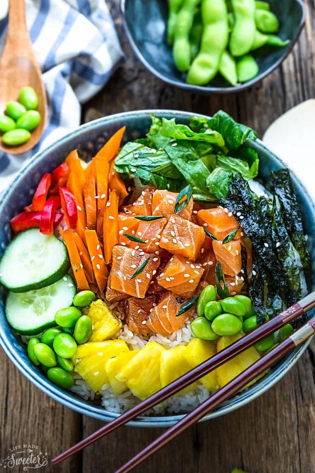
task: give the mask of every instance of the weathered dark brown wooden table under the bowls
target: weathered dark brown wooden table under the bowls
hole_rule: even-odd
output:
[[[147,72],[127,44],[119,1],[108,1],[126,62],[84,108],[84,121],[135,109],[168,108],[211,115],[223,109],[259,136],[279,115],[315,97],[315,1],[308,0],[306,29],[281,68],[238,95],[200,97],[168,87]],[[314,150],[310,150],[314,154]],[[298,159],[298,156],[297,156]],[[35,444],[52,458],[102,423],[53,401],[27,381],[0,350],[0,459],[9,448]],[[139,473],[315,472],[315,342],[276,386],[229,415],[199,424],[136,471]],[[159,430],[124,427],[83,453],[45,472],[112,473]],[[1,469],[1,467],[0,467]],[[3,470],[4,471],[4,470]],[[14,472],[22,472],[15,467]]]

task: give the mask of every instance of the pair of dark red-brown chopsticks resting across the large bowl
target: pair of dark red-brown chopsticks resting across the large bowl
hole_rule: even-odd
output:
[[[116,419],[112,420],[104,427],[94,432],[92,435],[83,439],[78,444],[71,447],[69,450],[58,455],[54,458],[51,463],[57,465],[71,455],[79,452],[84,447],[92,444],[96,440],[104,437],[118,427],[126,424],[140,414],[143,414],[148,409],[154,407],[155,405],[161,403],[168,397],[176,394],[178,391],[189,386],[194,381],[197,381],[201,377],[208,374],[213,369],[217,368],[221,364],[230,360],[233,356],[238,355],[243,352],[250,346],[254,345],[259,340],[263,339],[272,332],[280,329],[284,325],[292,322],[294,319],[299,317],[302,314],[305,314],[308,310],[315,307],[315,292],[309,294],[301,301],[296,304],[293,304],[287,310],[277,315],[269,322],[261,325],[255,331],[245,335],[240,340],[237,340],[232,345],[229,345],[221,352],[216,353],[214,356],[204,361],[200,365],[196,366],[191,371],[188,371],[186,374],[180,378],[173,381],[171,384],[160,389],[158,392],[148,397],[140,404],[136,405],[129,411],[121,414]],[[179,422],[174,426],[166,430],[160,437],[158,437],[154,442],[148,445],[145,449],[135,455],[129,462],[123,465],[116,473],[125,473],[129,472],[150,455],[157,452],[165,444],[173,440],[180,433],[186,430],[188,427],[192,426],[199,420],[201,420],[205,415],[209,414],[213,409],[218,407],[222,402],[228,399],[231,395],[237,393],[241,388],[246,386],[250,381],[254,380],[257,376],[262,374],[267,368],[272,366],[274,363],[279,361],[283,356],[287,355],[290,351],[299,347],[306,340],[312,337],[315,334],[315,317],[303,325],[300,329],[294,332],[290,337],[288,337],[284,342],[277,345],[273,350],[268,352],[262,358],[257,360],[251,366],[249,366],[245,371],[240,373],[236,378],[232,379],[222,388],[218,389],[211,395],[206,401],[196,407],[193,411],[183,417]]]

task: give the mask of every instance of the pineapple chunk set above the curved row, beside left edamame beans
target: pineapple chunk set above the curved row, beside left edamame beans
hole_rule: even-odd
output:
[[[108,309],[105,302],[98,299],[83,309],[84,315],[88,315],[93,324],[93,332],[89,342],[103,342],[110,339],[121,328],[120,320]]]

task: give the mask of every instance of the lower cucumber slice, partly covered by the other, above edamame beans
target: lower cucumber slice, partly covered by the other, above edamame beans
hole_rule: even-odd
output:
[[[5,315],[10,326],[21,335],[37,335],[46,327],[55,327],[57,310],[69,307],[76,286],[69,274],[50,286],[28,292],[9,292]]]

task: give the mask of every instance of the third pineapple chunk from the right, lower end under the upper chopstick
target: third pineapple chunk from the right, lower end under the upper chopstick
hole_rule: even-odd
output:
[[[192,369],[191,365],[186,361],[185,357],[186,347],[178,345],[177,347],[166,350],[161,355],[160,377],[162,387],[170,384],[175,379]],[[185,389],[177,393],[187,394],[194,391],[197,387],[197,382],[190,384]]]

